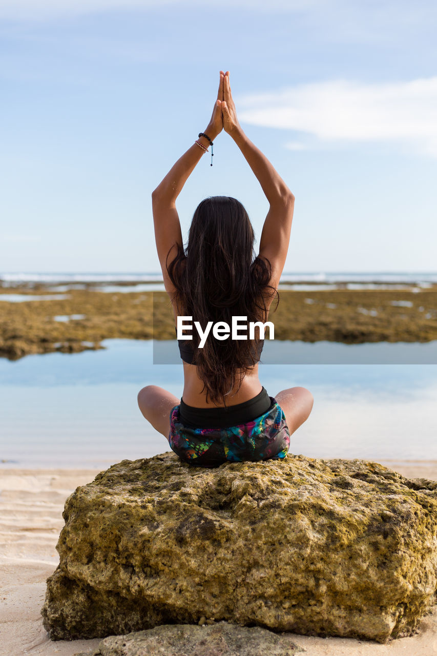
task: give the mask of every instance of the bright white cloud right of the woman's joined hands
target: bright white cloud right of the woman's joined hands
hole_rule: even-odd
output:
[[[392,83],[338,79],[236,98],[239,120],[302,133],[289,148],[391,142],[437,157],[437,77]]]

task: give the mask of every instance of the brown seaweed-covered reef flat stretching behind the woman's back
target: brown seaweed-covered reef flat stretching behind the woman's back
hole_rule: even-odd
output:
[[[102,291],[96,283],[0,287],[0,356],[102,348],[108,338],[175,339],[165,292]],[[35,300],[8,302],[15,295]],[[41,298],[43,297],[43,298]],[[273,310],[274,306],[272,306]],[[280,289],[270,312],[276,340],[428,342],[437,339],[437,285],[421,289]]]

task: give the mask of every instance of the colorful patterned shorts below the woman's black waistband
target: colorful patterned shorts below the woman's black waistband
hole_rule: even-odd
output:
[[[290,434],[283,410],[271,399],[264,415],[231,428],[188,428],[180,422],[175,405],[170,413],[170,447],[182,461],[200,467],[285,458]]]

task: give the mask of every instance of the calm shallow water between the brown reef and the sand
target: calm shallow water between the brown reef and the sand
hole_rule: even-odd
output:
[[[182,363],[154,364],[151,341],[102,344],[106,349],[79,354],[0,359],[1,467],[106,468],[169,451],[167,440],[142,417],[136,396],[142,386],[156,384],[180,398]],[[344,346],[319,342],[319,358],[323,348],[329,355],[329,344]],[[357,353],[362,346],[348,345]],[[270,396],[293,386],[314,396],[310,417],[291,438],[290,453],[436,460],[437,365],[353,359],[260,363],[260,380]]]

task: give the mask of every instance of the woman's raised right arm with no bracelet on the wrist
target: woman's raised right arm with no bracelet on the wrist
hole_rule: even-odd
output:
[[[253,173],[255,173],[270,204],[270,209],[262,227],[259,255],[270,260],[270,264],[272,264],[270,285],[278,287],[288,252],[295,197],[267,157],[247,138],[243,129],[241,129],[234,100],[232,100],[229,71],[224,75],[223,96],[224,100],[220,103],[223,114],[223,129],[236,142]]]

